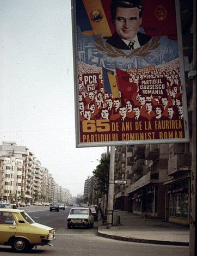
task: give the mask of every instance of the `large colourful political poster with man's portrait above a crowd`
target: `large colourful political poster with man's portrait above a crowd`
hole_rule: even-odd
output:
[[[73,4],[77,147],[188,141],[173,0]]]

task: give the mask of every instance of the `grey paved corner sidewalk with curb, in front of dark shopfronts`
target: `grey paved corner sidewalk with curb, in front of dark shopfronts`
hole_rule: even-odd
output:
[[[114,210],[114,220],[116,216],[120,216],[120,224],[107,229],[100,221],[98,235],[130,242],[189,246],[189,227],[144,218],[128,211]]]

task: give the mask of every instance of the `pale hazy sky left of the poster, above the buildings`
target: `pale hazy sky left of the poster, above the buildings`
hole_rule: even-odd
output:
[[[76,148],[70,0],[0,0],[0,34],[0,144],[26,146],[83,194],[107,148]]]

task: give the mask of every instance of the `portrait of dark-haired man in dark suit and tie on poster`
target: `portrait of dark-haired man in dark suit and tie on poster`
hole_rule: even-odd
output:
[[[106,42],[121,50],[133,50],[149,42],[152,37],[139,32],[143,8],[141,0],[112,0],[110,13],[115,33]]]

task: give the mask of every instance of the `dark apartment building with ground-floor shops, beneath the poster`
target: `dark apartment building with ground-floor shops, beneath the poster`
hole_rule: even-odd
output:
[[[116,147],[115,208],[189,224],[192,154],[189,143]],[[125,159],[125,155],[127,159]]]

